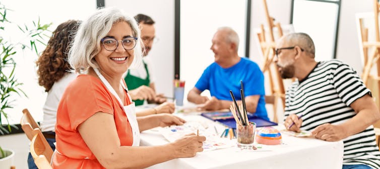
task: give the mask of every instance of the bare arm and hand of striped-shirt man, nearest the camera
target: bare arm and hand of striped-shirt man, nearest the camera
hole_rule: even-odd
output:
[[[357,113],[353,118],[340,125],[329,123],[320,125],[312,131],[312,134],[322,140],[339,141],[365,130],[380,119],[380,112],[368,94],[354,101],[350,107]]]

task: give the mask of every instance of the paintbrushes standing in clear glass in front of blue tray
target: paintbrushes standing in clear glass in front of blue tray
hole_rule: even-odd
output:
[[[246,126],[249,125],[248,117],[247,117],[247,110],[245,106],[245,99],[244,99],[244,87],[243,87],[243,81],[240,80],[240,96],[241,96],[241,102],[240,106],[237,106],[235,96],[233,96],[232,91],[230,91],[230,95],[233,101],[233,105],[230,106],[230,110],[232,112],[233,117],[235,118],[235,121],[237,124]]]

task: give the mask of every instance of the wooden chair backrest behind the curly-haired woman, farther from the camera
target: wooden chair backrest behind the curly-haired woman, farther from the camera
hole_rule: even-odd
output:
[[[21,128],[24,130],[26,136],[29,138],[29,140],[32,140],[34,136],[33,129],[40,129],[40,126],[33,119],[28,109],[23,110],[23,116],[21,117],[20,125]]]

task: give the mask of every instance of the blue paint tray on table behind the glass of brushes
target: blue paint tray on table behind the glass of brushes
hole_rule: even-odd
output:
[[[220,122],[220,123],[222,123],[222,124],[228,126],[229,128],[236,129],[236,121],[235,121],[235,119],[233,118],[232,113],[231,113],[231,112],[226,112],[226,113],[231,114],[231,117],[232,117],[232,118],[226,118],[226,119],[213,119],[213,118],[210,117],[210,114],[215,114],[215,112],[202,113],[201,115],[202,115],[203,117],[206,117],[206,118],[211,119],[211,120],[213,120],[213,121]],[[223,114],[224,114],[224,113],[223,113]],[[277,126],[277,123],[275,123],[275,122],[271,122],[271,121],[269,121],[269,120],[262,119],[262,118],[260,118],[260,117],[255,116],[254,114],[251,114],[251,113],[247,113],[247,117],[248,117],[248,121],[249,121],[249,122],[254,122],[254,123],[256,123],[256,127]]]

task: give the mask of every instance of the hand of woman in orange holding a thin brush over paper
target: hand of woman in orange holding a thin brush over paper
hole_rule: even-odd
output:
[[[197,152],[203,151],[203,142],[206,141],[205,136],[197,136],[194,133],[188,134],[173,143],[173,152],[176,158],[194,157]]]

